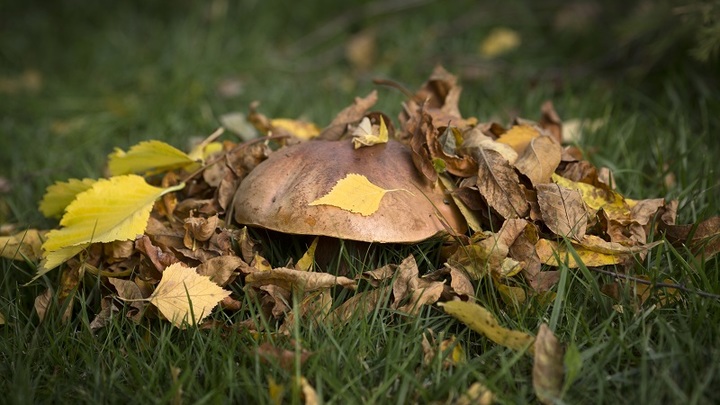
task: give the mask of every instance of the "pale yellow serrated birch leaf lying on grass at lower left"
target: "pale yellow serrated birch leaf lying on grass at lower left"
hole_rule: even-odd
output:
[[[147,299],[178,328],[186,323],[197,324],[208,316],[230,291],[197,274],[195,268],[171,264],[162,274],[157,288]]]

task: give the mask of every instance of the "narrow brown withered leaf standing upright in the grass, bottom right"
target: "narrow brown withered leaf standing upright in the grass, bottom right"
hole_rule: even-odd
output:
[[[554,404],[559,399],[565,369],[564,350],[546,324],[540,325],[535,338],[535,361],[533,362],[533,388],[543,404]]]

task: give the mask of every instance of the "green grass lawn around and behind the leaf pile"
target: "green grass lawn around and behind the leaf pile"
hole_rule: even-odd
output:
[[[717,64],[695,64],[677,49],[662,63],[643,63],[637,55],[647,43],[618,39],[620,23],[610,17],[622,12],[608,12],[600,28],[565,33],[553,28],[555,6],[388,3],[405,5],[393,11],[380,4],[3,5],[0,78],[14,84],[0,86],[0,176],[12,186],[0,196],[0,224],[56,226],[37,212],[44,188],[102,175],[114,147],[145,139],[185,147],[213,132],[222,114],[247,111],[252,100],[269,116],[323,125],[375,88],[372,78],[412,89],[437,63],[461,75],[464,115],[501,123],[516,115],[536,119],[541,103],[552,99],[565,119],[606,117],[607,125],[581,147],[593,163],[614,170],[623,194],[678,199],[681,223],[720,212],[720,91],[716,74],[708,73]],[[484,60],[478,46],[498,25],[518,30],[523,43]],[[345,60],[343,44],[367,27],[376,30],[377,57],[368,71],[358,71]],[[41,77],[38,88],[18,79],[28,71]],[[218,92],[227,78],[242,83],[240,94]],[[402,97],[381,88],[377,108],[394,117]],[[665,182],[668,174],[673,183]],[[398,262],[401,253],[387,253],[387,260]],[[635,271],[718,294],[718,262],[697,263],[683,248],[663,245]],[[269,378],[287,388],[287,402],[297,403],[291,381],[300,375],[328,403],[444,403],[476,381],[503,403],[534,400],[531,358],[489,343],[436,307],[414,318],[380,309],[344,326],[303,322],[290,338],[258,337],[237,326],[255,310],[246,298],[241,313],[217,315],[229,329],[179,331],[159,321],[135,324],[121,313],[93,334],[89,322],[100,296],[93,280],[79,293],[70,322],[51,316],[39,323],[33,300],[57,284],[58,274],[23,287],[33,266],[0,265],[0,312],[7,320],[0,326],[0,392],[8,403],[167,403],[177,395],[185,403],[267,403]],[[610,277],[564,271],[551,303],[513,308],[492,286],[478,288],[501,324],[535,333],[546,322],[561,342],[579,349],[583,368],[567,403],[720,401],[719,300],[682,293],[678,303],[650,302],[633,311],[629,292],[620,303],[599,293]],[[423,366],[428,328],[456,335],[467,362]],[[263,342],[291,351],[299,345],[312,355],[282,368],[260,359]],[[173,368],[180,369],[177,381]]]

